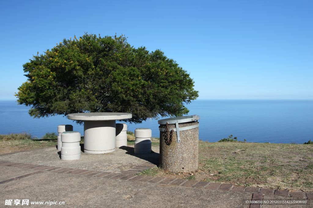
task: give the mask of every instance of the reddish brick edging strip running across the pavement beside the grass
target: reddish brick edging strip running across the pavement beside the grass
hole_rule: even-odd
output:
[[[235,192],[245,192],[253,193],[253,197],[259,198],[263,195],[276,195],[276,196],[289,196],[293,198],[300,199],[309,199],[313,200],[313,193],[295,191],[289,192],[286,190],[274,190],[269,188],[259,188],[259,187],[244,187],[244,186],[234,186],[233,184],[228,183],[215,183],[208,181],[196,181],[196,180],[187,180],[181,178],[167,178],[167,177],[155,177],[155,176],[143,176],[143,175],[134,175],[140,173],[143,170],[155,167],[151,162],[145,162],[140,165],[137,165],[121,173],[112,173],[112,172],[103,172],[103,171],[90,171],[83,169],[75,168],[64,168],[64,167],[54,167],[54,166],[43,166],[43,165],[34,165],[34,164],[25,164],[25,163],[14,163],[7,161],[0,161],[0,166],[9,166],[9,167],[19,167],[19,168],[28,168],[38,170],[38,172],[51,171],[55,173],[66,173],[80,176],[92,176],[92,177],[103,177],[111,179],[120,179],[127,181],[141,181],[156,183],[157,186],[183,186],[183,187],[193,187],[193,188],[205,188],[210,190],[220,190],[220,191],[235,191]],[[9,179],[11,180],[11,179]],[[15,179],[12,179],[13,181]],[[0,184],[3,181],[0,182]],[[7,181],[9,182],[9,181]],[[258,205],[255,205],[255,207]],[[254,207],[254,205],[253,205]]]

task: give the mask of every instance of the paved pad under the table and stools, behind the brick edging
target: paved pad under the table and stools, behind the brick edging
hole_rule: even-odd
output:
[[[26,151],[1,156],[0,160],[120,173],[146,161],[158,161],[159,158],[159,147],[152,147],[152,150],[156,153],[143,155],[135,155],[133,147],[122,148],[116,148],[116,151],[106,154],[81,152],[80,160],[60,160],[60,151],[56,148],[38,148],[31,151],[31,153]]]

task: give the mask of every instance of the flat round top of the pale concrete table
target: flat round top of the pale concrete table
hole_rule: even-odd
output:
[[[122,120],[131,118],[131,113],[71,113],[67,115],[70,120],[78,121],[108,121],[108,120]]]

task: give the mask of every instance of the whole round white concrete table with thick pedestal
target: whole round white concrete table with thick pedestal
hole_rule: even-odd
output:
[[[131,113],[72,113],[70,120],[84,121],[84,152],[103,154],[115,151],[115,120],[129,119]]]

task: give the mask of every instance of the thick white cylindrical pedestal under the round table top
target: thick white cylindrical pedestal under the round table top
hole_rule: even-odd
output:
[[[115,120],[84,121],[84,152],[103,154],[115,151]]]

